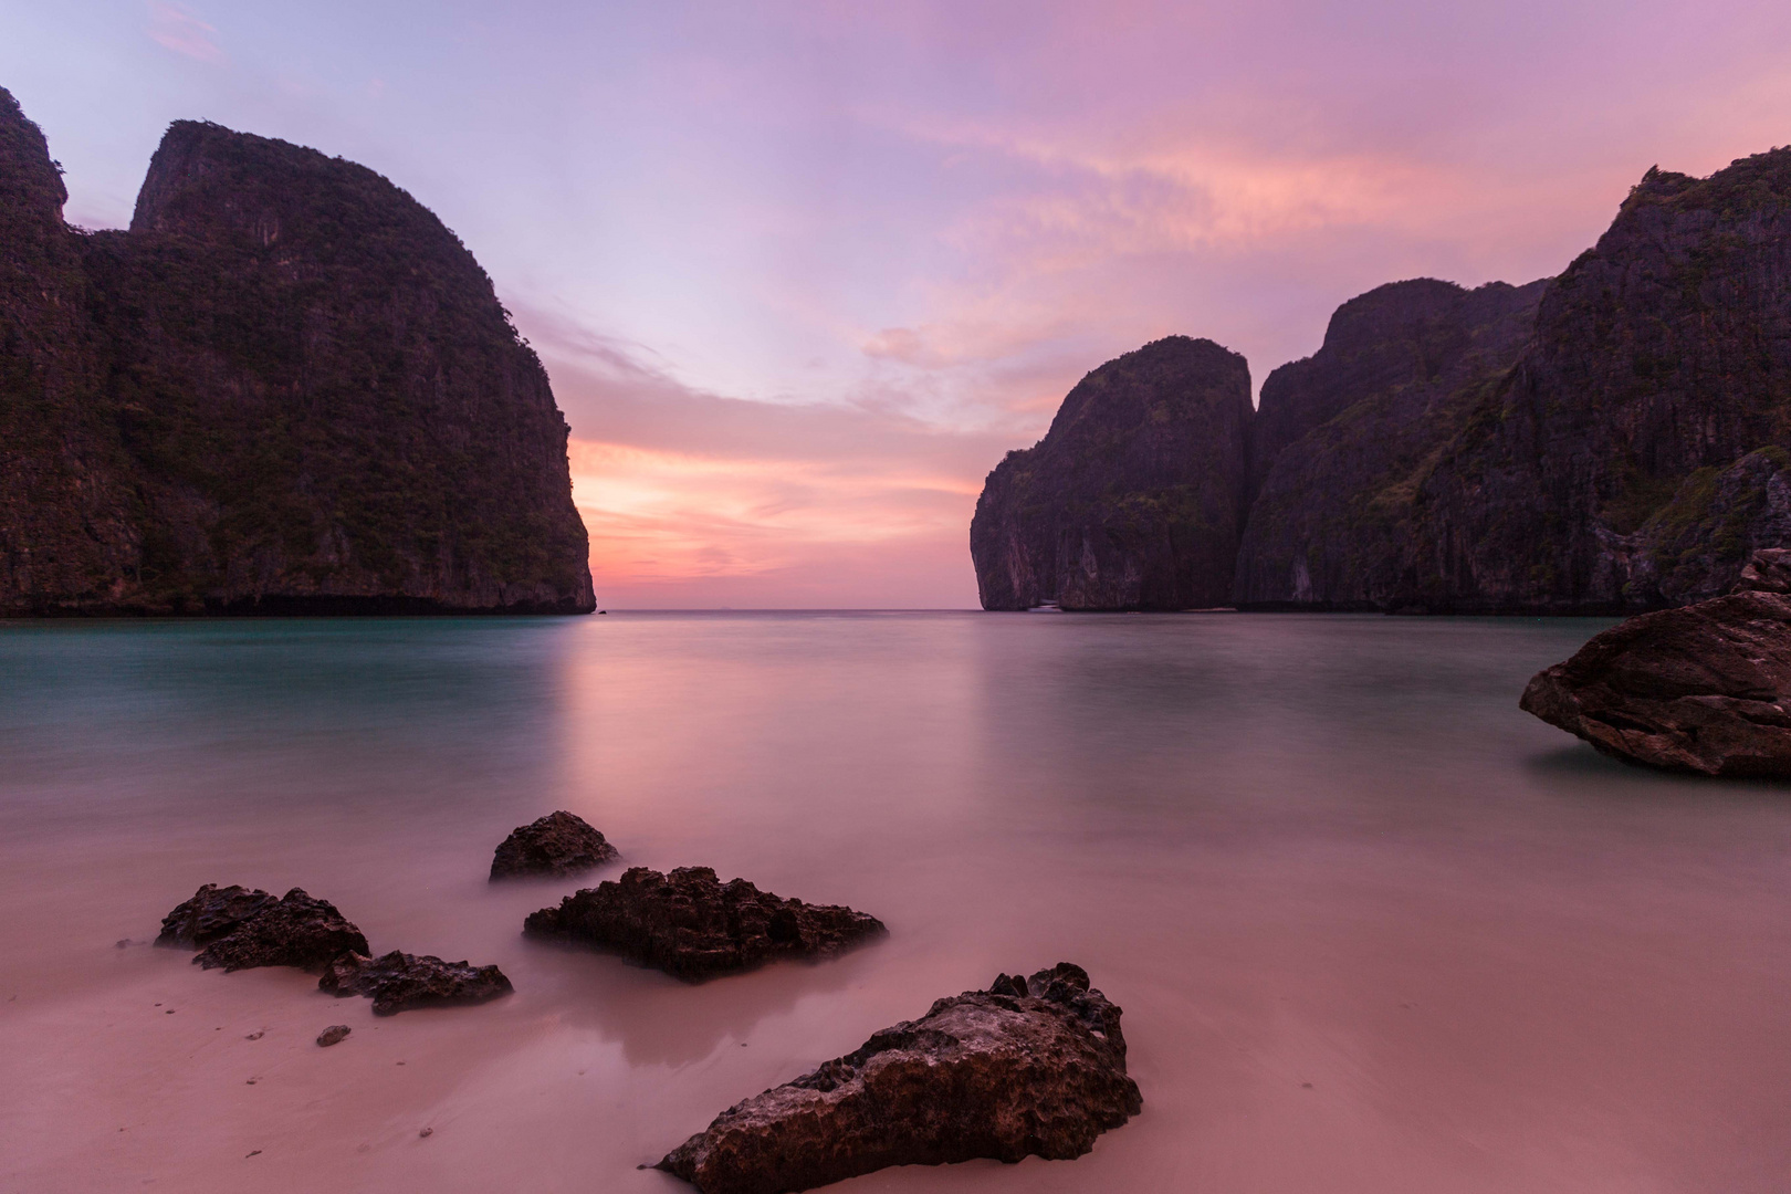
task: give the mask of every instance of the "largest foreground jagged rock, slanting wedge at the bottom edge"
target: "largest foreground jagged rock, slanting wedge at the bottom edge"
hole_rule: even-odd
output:
[[[1069,1160],[1141,1108],[1119,1008],[1058,963],[940,999],[736,1103],[657,1167],[702,1194],[784,1194],[887,1165]]]

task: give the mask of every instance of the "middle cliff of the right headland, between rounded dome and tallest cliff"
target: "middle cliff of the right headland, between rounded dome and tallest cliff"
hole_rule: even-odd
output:
[[[1331,317],[1324,347],[1263,383],[1257,485],[1236,601],[1388,609],[1408,600],[1417,487],[1528,342],[1547,283],[1418,279]]]

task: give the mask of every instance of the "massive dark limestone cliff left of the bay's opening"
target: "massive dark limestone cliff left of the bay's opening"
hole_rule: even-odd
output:
[[[0,90],[0,616],[596,607],[546,372],[410,195],[177,122],[131,231],[64,199]]]

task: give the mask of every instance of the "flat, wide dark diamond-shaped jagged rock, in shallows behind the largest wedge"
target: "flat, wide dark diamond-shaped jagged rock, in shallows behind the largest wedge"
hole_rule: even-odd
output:
[[[530,913],[523,933],[611,949],[697,983],[777,958],[833,958],[887,929],[851,908],[783,899],[745,879],[722,884],[707,866],[670,875],[630,866],[620,883]]]

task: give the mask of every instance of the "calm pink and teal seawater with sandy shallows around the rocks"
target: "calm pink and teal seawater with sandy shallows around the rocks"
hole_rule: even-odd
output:
[[[634,1165],[736,1099],[1067,959],[1125,1008],[1143,1117],[836,1189],[1784,1190],[1791,789],[1519,712],[1596,628],[0,625],[0,1189],[670,1194]],[[485,868],[555,807],[892,936],[695,988],[525,942],[575,884]],[[374,1022],[143,945],[206,881],[518,994]]]

